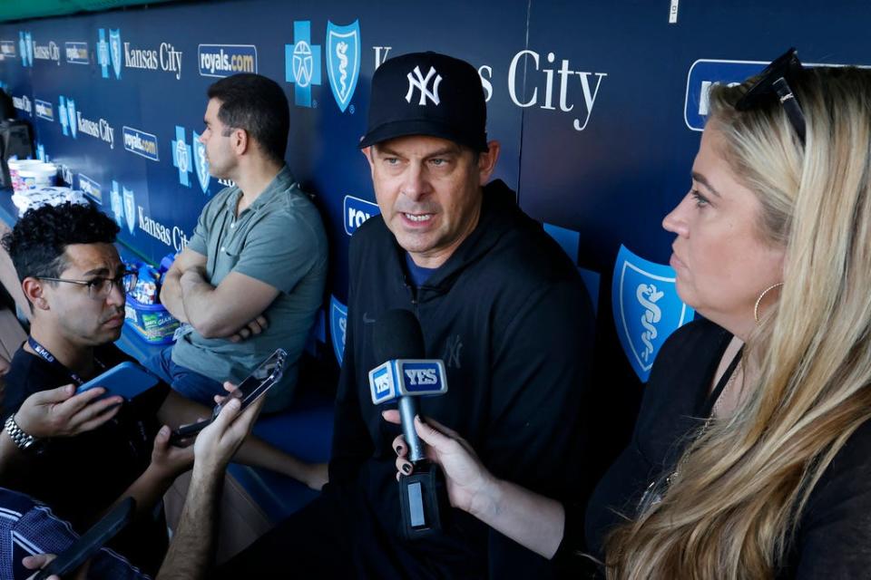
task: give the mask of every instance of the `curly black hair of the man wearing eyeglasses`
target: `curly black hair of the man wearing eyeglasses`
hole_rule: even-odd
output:
[[[64,203],[31,209],[3,237],[18,279],[60,277],[64,252],[73,244],[112,244],[120,231],[112,218],[91,204]]]

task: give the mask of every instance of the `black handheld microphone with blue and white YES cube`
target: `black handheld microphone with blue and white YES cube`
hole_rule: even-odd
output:
[[[369,372],[369,391],[375,405],[398,401],[402,432],[408,445],[408,459],[415,472],[399,476],[403,536],[430,536],[442,529],[444,508],[449,503],[445,478],[438,466],[424,455],[424,445],[415,430],[417,397],[447,391],[445,364],[423,358],[424,335],[414,314],[388,310],[378,317],[372,332],[376,359],[383,361]]]

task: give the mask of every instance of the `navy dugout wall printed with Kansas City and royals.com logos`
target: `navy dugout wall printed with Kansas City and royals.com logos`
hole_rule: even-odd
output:
[[[39,156],[152,263],[185,246],[227,185],[197,140],[209,84],[239,72],[279,82],[289,167],[330,236],[318,335],[340,362],[348,240],[378,213],[356,147],[372,73],[421,50],[473,63],[502,143],[496,177],[579,266],[597,309],[597,381],[631,409],[662,341],[694,315],[674,292],[661,219],[688,189],[710,85],[790,45],[806,63],[866,63],[869,14],[807,0],[167,4],[2,25],[0,82]],[[409,76],[408,91],[434,99],[435,75]],[[621,417],[631,412],[615,413],[617,431]]]

